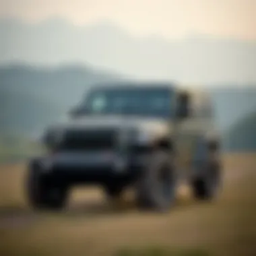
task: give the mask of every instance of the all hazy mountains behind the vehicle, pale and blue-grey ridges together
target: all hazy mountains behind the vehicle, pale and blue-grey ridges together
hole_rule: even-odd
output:
[[[107,22],[75,27],[58,19],[0,20],[0,38],[0,135],[40,135],[96,83],[160,79],[202,84],[225,149],[256,150],[256,42],[136,38]]]

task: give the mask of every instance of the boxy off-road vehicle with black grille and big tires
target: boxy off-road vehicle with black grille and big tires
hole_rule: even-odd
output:
[[[61,209],[73,185],[101,185],[108,197],[132,187],[139,207],[168,210],[179,181],[197,199],[220,187],[220,137],[210,97],[164,83],[94,86],[42,136],[26,190],[36,208]]]

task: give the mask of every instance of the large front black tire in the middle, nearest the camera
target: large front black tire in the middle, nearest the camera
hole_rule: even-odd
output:
[[[168,211],[176,199],[176,185],[170,156],[162,151],[154,152],[137,181],[137,205],[145,210]]]

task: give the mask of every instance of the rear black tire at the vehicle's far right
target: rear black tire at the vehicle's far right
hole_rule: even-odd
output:
[[[209,161],[205,164],[199,177],[193,179],[193,195],[199,200],[212,200],[220,189],[220,164]]]

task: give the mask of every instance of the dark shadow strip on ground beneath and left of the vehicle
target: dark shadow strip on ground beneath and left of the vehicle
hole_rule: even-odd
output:
[[[187,208],[197,207],[200,203],[193,199],[177,199],[175,205],[172,206],[172,212],[183,211]],[[35,211],[27,205],[14,205],[12,207],[0,207],[0,222],[6,219],[21,218],[33,220],[40,217],[55,215],[59,217],[100,217],[100,216],[129,216],[130,214],[145,214],[150,211],[140,211],[136,207],[134,200],[106,201],[104,199],[94,201],[86,200],[67,205],[61,211]],[[152,213],[152,212],[151,212]]]

